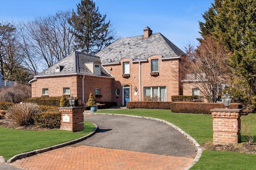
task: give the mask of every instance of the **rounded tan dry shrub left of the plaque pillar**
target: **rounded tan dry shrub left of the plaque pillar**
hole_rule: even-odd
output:
[[[6,111],[6,117],[21,126],[34,123],[33,115],[39,113],[40,107],[34,103],[15,104]]]

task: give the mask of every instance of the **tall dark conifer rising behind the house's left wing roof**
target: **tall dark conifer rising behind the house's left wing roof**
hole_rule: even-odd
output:
[[[73,10],[69,20],[74,27],[75,48],[87,54],[95,54],[109,45],[115,33],[110,21],[106,23],[105,20],[106,14],[102,16],[92,0],[82,0],[77,5],[77,13]]]

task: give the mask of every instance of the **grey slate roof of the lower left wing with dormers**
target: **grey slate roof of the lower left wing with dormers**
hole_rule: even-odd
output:
[[[93,63],[95,61],[100,61],[100,57],[75,51],[74,53],[68,55],[67,57],[65,57],[58,63],[54,64],[50,68],[44,70],[43,72],[36,75],[35,77],[64,76],[64,75],[72,75],[72,74],[96,76],[85,65],[85,63]],[[55,72],[55,67],[57,65],[61,67],[60,72]],[[100,76],[112,77],[102,66],[101,66]]]

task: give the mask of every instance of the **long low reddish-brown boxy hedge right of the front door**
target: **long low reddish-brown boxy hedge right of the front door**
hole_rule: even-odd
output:
[[[223,103],[205,102],[127,102],[126,107],[144,109],[170,109],[176,113],[211,114],[211,109],[225,108]],[[242,109],[242,104],[231,103],[229,109]]]

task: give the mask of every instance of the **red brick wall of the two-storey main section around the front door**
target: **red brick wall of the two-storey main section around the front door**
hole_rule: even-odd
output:
[[[154,55],[148,58],[148,62],[141,63],[141,97],[142,101],[144,98],[144,87],[152,86],[166,86],[166,101],[171,101],[172,95],[180,95],[180,84],[179,84],[179,59],[175,60],[160,60],[161,56]],[[151,76],[151,60],[159,59],[159,76]],[[123,62],[130,62],[130,77],[124,78],[123,74]],[[108,72],[110,68],[112,71],[110,74],[114,76],[113,88],[112,88],[112,100],[118,103],[118,106],[122,105],[122,86],[125,84],[130,85],[130,101],[140,100],[140,89],[139,89],[139,63],[132,63],[131,59],[122,59],[120,64],[106,65],[104,66]],[[134,95],[134,87],[137,87],[138,94]],[[115,95],[115,89],[121,90],[120,96]]]

